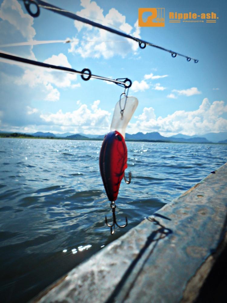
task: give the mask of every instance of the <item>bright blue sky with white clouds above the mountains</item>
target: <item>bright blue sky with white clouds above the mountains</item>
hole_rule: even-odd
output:
[[[227,131],[225,1],[49,1],[92,21],[197,58],[198,63],[74,22],[41,8],[28,15],[22,1],[0,1],[1,47],[31,58],[95,75],[130,78],[139,105],[128,133],[202,135]],[[64,6],[64,7],[63,7]],[[138,27],[138,8],[165,8],[165,27]],[[216,23],[169,23],[169,12],[215,12]],[[11,62],[12,63],[12,62]],[[104,134],[123,88],[101,80],[0,62],[0,129],[18,132]]]

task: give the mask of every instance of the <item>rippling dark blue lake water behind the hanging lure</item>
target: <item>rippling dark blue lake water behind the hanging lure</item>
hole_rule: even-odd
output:
[[[227,145],[127,142],[114,235],[101,141],[0,139],[0,298],[26,302],[226,162]],[[127,174],[126,174],[127,175]],[[67,251],[66,251],[67,250]]]

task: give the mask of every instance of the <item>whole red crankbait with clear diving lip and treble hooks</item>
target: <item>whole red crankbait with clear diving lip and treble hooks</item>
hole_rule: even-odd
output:
[[[125,94],[123,93],[121,96],[122,95]],[[125,95],[125,97],[121,99],[121,96],[115,106],[110,132],[104,138],[99,157],[100,174],[107,197],[111,201],[110,207],[113,214],[113,223],[109,224],[107,217],[105,217],[106,225],[110,227],[111,234],[114,233],[115,225],[123,228],[128,224],[127,217],[125,217],[126,224],[117,224],[115,201],[117,200],[121,180],[124,178],[127,184],[130,184],[131,181],[131,173],[129,173],[129,181],[127,181],[125,177],[125,169],[127,168],[127,146],[124,138],[125,129],[138,105],[137,98],[127,97]],[[124,107],[122,108],[121,103],[123,102]]]

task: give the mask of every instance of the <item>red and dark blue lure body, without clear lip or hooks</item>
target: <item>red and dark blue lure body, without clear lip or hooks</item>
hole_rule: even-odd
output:
[[[120,182],[127,168],[127,147],[119,132],[112,131],[105,136],[99,167],[108,199],[111,202],[117,200]]]

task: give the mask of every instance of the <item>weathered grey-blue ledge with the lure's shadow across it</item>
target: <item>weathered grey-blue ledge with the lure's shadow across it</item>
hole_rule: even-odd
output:
[[[227,164],[31,302],[193,302],[226,228]]]

